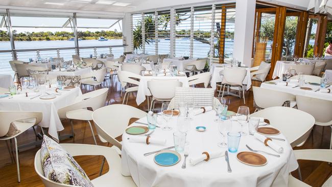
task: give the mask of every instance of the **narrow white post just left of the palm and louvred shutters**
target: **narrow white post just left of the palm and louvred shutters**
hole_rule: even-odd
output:
[[[126,13],[125,17],[122,19],[122,36],[123,36],[123,44],[125,46],[125,52],[133,52],[133,31],[132,31],[132,16],[131,13]]]

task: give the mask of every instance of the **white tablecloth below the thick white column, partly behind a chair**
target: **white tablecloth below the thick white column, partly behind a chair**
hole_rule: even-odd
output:
[[[217,82],[221,82],[222,79],[219,75],[220,71],[224,70],[225,66],[230,66],[230,64],[212,64],[212,68],[210,68],[210,72],[212,74],[210,85],[212,88],[217,88]],[[246,67],[247,75],[243,80],[243,84],[246,84],[246,89],[249,90],[251,87],[251,77],[250,77],[250,68]]]

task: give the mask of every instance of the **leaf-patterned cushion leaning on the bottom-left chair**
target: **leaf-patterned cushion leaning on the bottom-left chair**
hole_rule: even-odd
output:
[[[46,135],[43,136],[40,153],[41,164],[46,178],[62,184],[84,187],[93,186],[75,159]]]

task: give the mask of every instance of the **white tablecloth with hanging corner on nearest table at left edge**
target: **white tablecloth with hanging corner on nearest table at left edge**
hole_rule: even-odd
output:
[[[25,94],[26,90],[22,90],[22,94],[14,95],[12,99],[0,99],[0,110],[8,111],[40,111],[43,113],[40,125],[49,128],[48,133],[55,139],[59,139],[58,131],[63,130],[63,126],[58,116],[58,109],[72,104],[75,98],[82,94],[80,87],[71,89],[70,91],[60,91],[61,96],[51,100],[42,100],[39,97],[33,98],[40,92],[33,92],[28,89],[28,98]],[[46,92],[55,93],[55,86],[46,88]]]

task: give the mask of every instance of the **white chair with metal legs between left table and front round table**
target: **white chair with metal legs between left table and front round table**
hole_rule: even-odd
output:
[[[96,137],[94,137],[92,125],[92,113],[94,110],[105,105],[108,88],[98,89],[87,92],[75,99],[73,104],[58,109],[58,115],[61,120],[68,119],[72,127],[72,136],[74,137],[73,120],[81,120],[89,123],[94,144],[97,145]],[[88,110],[91,108],[92,110]]]

